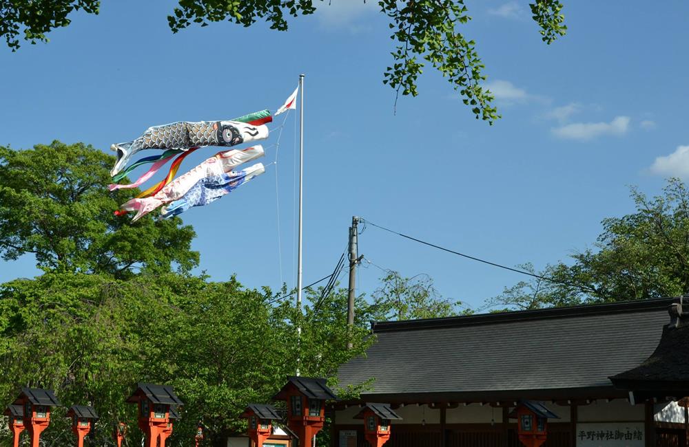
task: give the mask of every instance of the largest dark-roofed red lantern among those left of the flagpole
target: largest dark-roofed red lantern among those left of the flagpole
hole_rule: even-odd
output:
[[[140,383],[127,402],[138,404],[138,428],[146,437],[145,447],[165,447],[164,432],[172,433],[172,426],[168,426],[170,406],[183,405],[172,386]]]

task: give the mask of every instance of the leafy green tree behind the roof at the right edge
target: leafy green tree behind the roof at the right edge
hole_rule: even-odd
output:
[[[635,212],[610,217],[594,248],[572,263],[548,265],[542,276],[561,282],[522,281],[488,302],[524,309],[577,303],[679,296],[689,291],[689,190],[672,178],[657,197],[632,188]],[[565,284],[568,283],[568,284]]]

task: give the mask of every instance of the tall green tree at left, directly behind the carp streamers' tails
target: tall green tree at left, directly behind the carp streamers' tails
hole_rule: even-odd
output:
[[[132,225],[113,211],[132,194],[109,193],[114,157],[82,143],[0,146],[0,254],[33,254],[43,270],[107,273],[187,271],[196,233],[180,219]]]

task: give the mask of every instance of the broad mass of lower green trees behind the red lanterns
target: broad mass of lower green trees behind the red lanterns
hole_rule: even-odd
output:
[[[319,292],[306,298],[316,301]],[[141,433],[125,398],[136,382],[170,384],[185,402],[170,445],[188,446],[199,420],[207,445],[219,445],[245,431],[238,417],[245,406],[269,402],[297,365],[303,375],[332,378],[373,341],[365,325],[347,338],[346,302],[338,290],[300,314],[291,296],[174,272],[123,280],[47,272],[10,281],[0,287],[0,397],[11,402],[21,386],[54,389],[65,407],[96,408],[94,445],[107,444],[123,421],[131,446]],[[65,411],[56,408],[46,445],[72,443]]]

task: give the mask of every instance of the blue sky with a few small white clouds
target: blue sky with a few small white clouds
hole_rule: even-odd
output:
[[[628,186],[655,195],[665,177],[689,177],[689,4],[568,1],[568,35],[545,45],[527,3],[468,3],[464,32],[503,116],[490,127],[430,68],[420,96],[401,98],[393,115],[394,93],[382,84],[392,41],[372,1],[325,2],[289,32],[215,23],[178,34],[167,28],[173,1],[104,1],[99,16],[74,15],[47,45],[0,48],[0,144],[107,150],[155,124],[274,110],[303,72],[305,283],[334,268],[352,215],[543,268],[591,246],[601,219],[631,212]],[[294,285],[294,124],[289,116],[265,175],[183,215],[198,232],[199,271],[212,279]],[[183,170],[212,153],[197,151]],[[275,157],[271,148],[263,162]],[[371,226],[359,242],[373,264],[427,273],[444,296],[473,307],[522,279]],[[360,269],[360,292],[378,286],[373,264]],[[0,281],[32,274],[29,257],[0,263]]]

